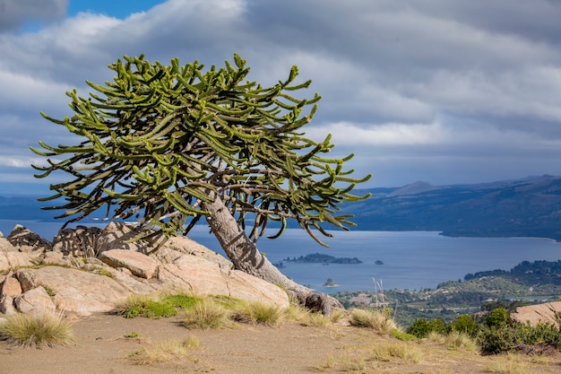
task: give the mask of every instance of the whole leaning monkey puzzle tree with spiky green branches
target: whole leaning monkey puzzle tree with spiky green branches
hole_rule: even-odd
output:
[[[367,196],[350,191],[366,178],[350,178],[341,160],[323,157],[333,144],[304,137],[300,128],[314,116],[320,97],[297,99],[292,92],[298,68],[289,78],[264,88],[244,82],[249,68],[234,55],[235,65],[203,71],[198,61],[184,66],[151,64],[124,57],[109,65],[117,76],[90,97],[66,92],[73,117],[49,121],[82,138],[76,145],[49,146],[39,141],[47,166],[33,168],[45,178],[63,171],[69,180],[50,185],[65,204],[56,218],[77,222],[104,208],[107,217],[139,222],[134,239],[187,234],[200,218],[237,269],[293,292],[306,304],[312,291],[294,283],[256,247],[269,222],[298,222],[312,238],[329,237],[325,225],[349,230],[351,215],[336,214],[339,205]],[[303,115],[303,110],[311,108]],[[60,201],[60,200],[57,200]],[[253,226],[247,223],[253,220]],[[271,228],[271,226],[270,226]],[[324,297],[320,299],[325,300]]]

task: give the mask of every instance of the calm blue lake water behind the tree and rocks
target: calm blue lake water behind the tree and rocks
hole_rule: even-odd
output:
[[[52,239],[60,222],[20,222],[46,239]],[[0,220],[0,231],[8,235],[13,221]],[[82,223],[88,225],[90,223]],[[101,225],[102,227],[105,224]],[[305,231],[289,229],[280,239],[260,239],[258,248],[277,263],[286,257],[324,253],[334,257],[358,257],[362,264],[295,264],[284,262],[282,273],[318,291],[375,291],[381,282],[384,290],[436,288],[438,283],[463,279],[468,273],[485,270],[510,270],[524,260],[561,259],[561,243],[540,238],[448,238],[435,231],[336,231],[335,238],[324,239],[324,248]],[[208,229],[195,227],[189,235],[204,246],[223,254]],[[380,260],[384,265],[375,265]],[[324,288],[327,278],[339,284]]]

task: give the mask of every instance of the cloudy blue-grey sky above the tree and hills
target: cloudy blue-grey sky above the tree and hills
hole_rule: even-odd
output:
[[[39,141],[82,139],[39,116],[145,54],[211,66],[234,53],[271,85],[298,65],[322,96],[304,127],[360,187],[561,175],[561,2],[0,0],[0,194],[49,195]]]

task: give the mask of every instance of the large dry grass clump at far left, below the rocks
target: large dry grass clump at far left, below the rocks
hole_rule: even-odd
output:
[[[73,343],[72,322],[61,313],[14,313],[0,324],[0,339],[24,347],[52,347]]]

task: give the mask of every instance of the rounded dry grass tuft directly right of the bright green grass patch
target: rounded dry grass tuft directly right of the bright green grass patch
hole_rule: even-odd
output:
[[[183,323],[187,328],[222,328],[229,326],[229,310],[216,301],[204,299],[186,309]]]

